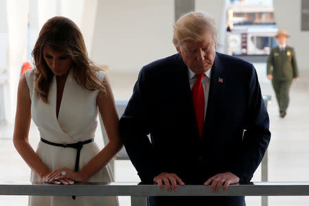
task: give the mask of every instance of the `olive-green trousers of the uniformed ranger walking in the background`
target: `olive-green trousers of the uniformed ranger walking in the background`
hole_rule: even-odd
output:
[[[292,80],[284,80],[284,81],[271,81],[273,84],[273,89],[276,93],[277,102],[279,105],[279,111],[283,112],[286,111],[288,108],[288,103],[290,99],[288,97],[288,93],[290,91],[290,85]]]

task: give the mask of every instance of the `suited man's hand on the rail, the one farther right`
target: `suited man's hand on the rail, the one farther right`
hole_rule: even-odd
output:
[[[223,191],[227,190],[227,187],[229,187],[230,184],[238,183],[240,181],[239,177],[231,172],[225,172],[216,174],[215,176],[212,176],[207,181],[205,181],[204,185],[210,185],[210,192],[214,192],[216,189],[216,192],[219,192],[220,188],[224,184]]]

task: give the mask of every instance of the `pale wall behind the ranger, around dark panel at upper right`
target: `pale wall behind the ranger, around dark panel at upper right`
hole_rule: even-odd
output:
[[[301,32],[301,0],[273,0],[275,21],[290,34],[287,45],[295,48],[299,70],[309,71],[309,32]]]

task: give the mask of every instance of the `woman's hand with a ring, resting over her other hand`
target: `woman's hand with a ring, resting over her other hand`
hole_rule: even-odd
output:
[[[88,179],[80,172],[74,172],[73,170],[70,170],[69,168],[61,168],[59,170],[55,170],[52,172],[49,176],[49,181],[54,181],[54,180],[62,180],[62,179],[71,179],[76,182],[83,182],[87,181]]]

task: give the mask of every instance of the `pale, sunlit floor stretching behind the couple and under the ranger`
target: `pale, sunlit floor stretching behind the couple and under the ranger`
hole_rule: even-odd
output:
[[[277,102],[270,82],[265,78],[265,65],[255,64],[258,71],[263,95],[271,95],[268,105],[271,119],[271,144],[268,148],[268,181],[309,181],[309,75],[301,76],[299,82],[293,82],[290,90],[288,115],[279,117]],[[137,73],[113,73],[108,71],[115,100],[128,100],[132,94]],[[0,124],[0,181],[29,181],[30,169],[14,149],[12,144],[12,124]],[[34,124],[30,128],[30,144],[36,148],[39,136]],[[102,134],[98,128],[95,141],[102,147]],[[115,162],[115,180],[119,182],[137,182],[130,161]],[[260,168],[252,181],[260,181]],[[248,206],[260,205],[260,197],[247,197]],[[130,205],[129,197],[119,198],[120,205]],[[0,205],[27,205],[27,196],[0,196]],[[309,205],[306,196],[272,196],[268,198],[270,206]]]

